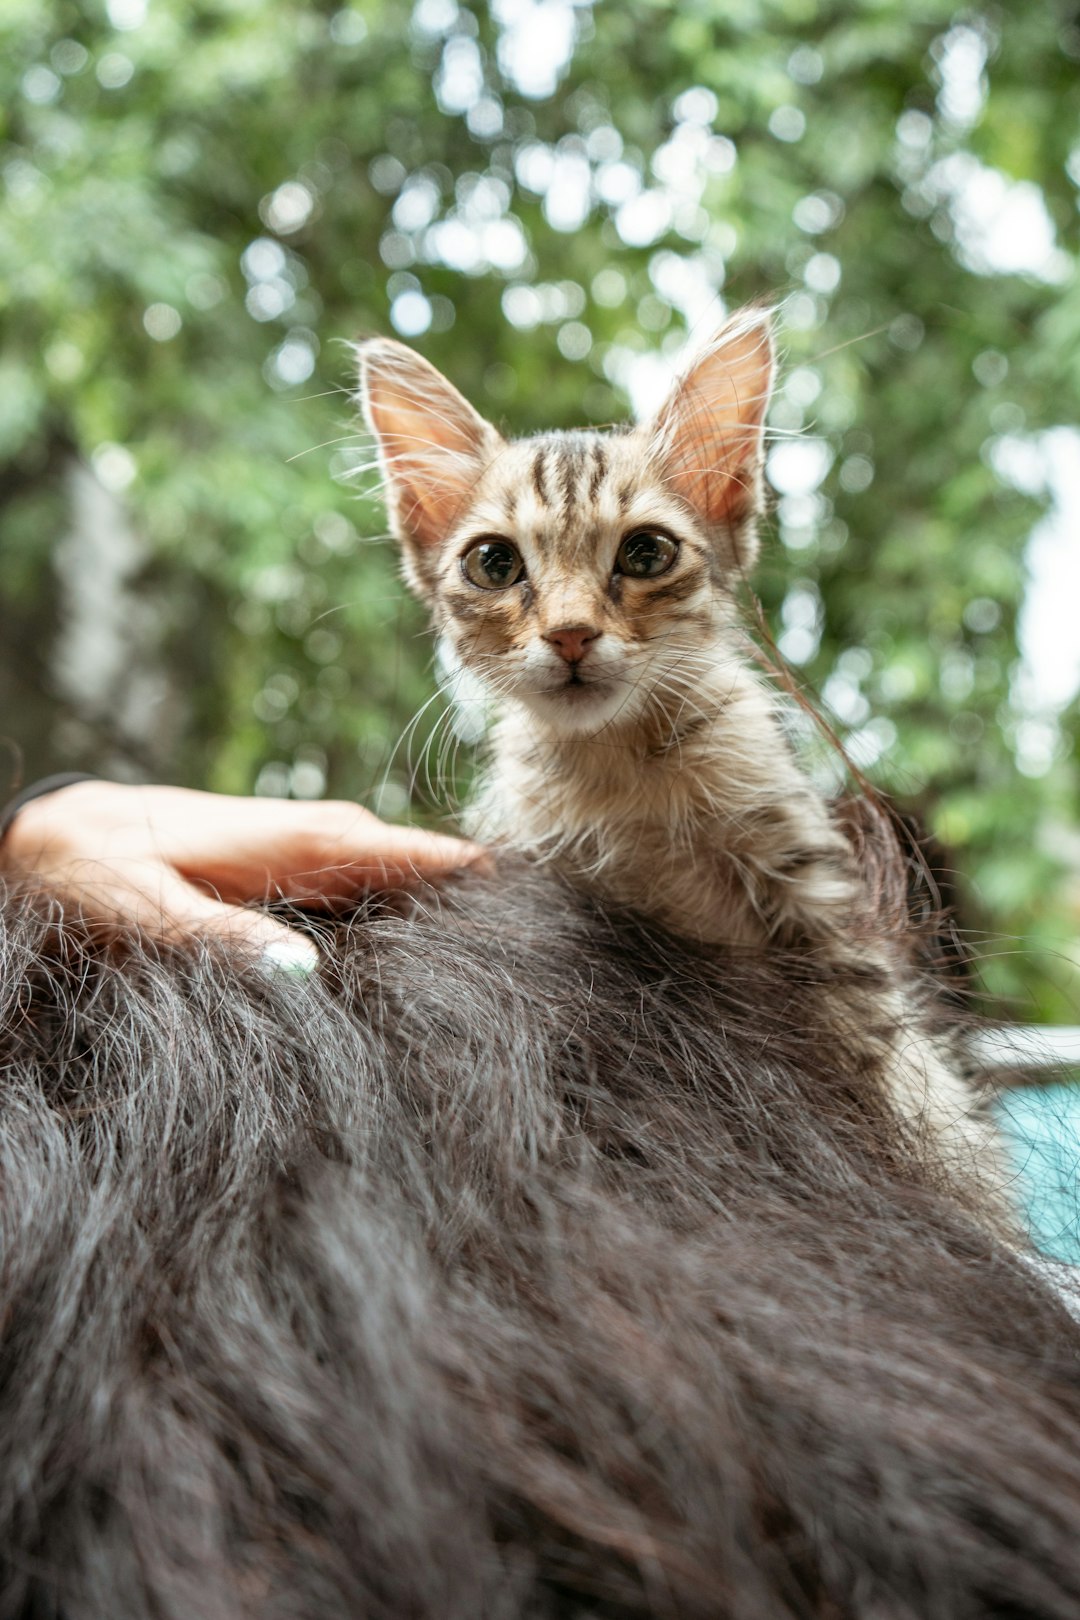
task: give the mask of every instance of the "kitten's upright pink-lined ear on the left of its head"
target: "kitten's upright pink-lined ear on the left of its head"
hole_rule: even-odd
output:
[[[358,355],[359,399],[379,446],[390,523],[423,577],[424,552],[445,539],[504,441],[405,343],[374,337]]]

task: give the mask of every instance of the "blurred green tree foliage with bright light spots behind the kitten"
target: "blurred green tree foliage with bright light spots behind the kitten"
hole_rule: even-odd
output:
[[[1078,65],[1020,0],[6,0],[13,757],[437,800],[347,340],[529,431],[769,296],[779,646],[1023,941],[989,988],[1075,1016],[1080,716],[1017,633],[1080,465]]]

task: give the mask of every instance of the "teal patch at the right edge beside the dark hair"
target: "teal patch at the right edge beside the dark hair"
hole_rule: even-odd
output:
[[[1009,1092],[997,1118],[1035,1247],[1080,1265],[1080,1084]]]

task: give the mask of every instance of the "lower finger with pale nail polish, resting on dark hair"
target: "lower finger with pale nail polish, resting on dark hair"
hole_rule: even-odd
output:
[[[309,974],[319,966],[319,951],[306,935],[266,912],[201,893],[164,862],[79,862],[50,873],[50,883],[78,901],[89,922],[108,932],[136,927],[180,944],[209,935],[270,969]]]

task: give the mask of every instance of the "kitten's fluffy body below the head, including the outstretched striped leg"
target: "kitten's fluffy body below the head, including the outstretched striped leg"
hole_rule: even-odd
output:
[[[999,1202],[1007,1171],[994,1132],[954,1055],[923,1029],[905,953],[876,927],[852,846],[746,666],[721,666],[687,693],[675,687],[648,724],[604,742],[500,716],[465,820],[474,836],[554,860],[701,943],[774,943],[858,962],[857,988],[831,990],[844,1037],[861,1030],[923,1150],[936,1145],[942,1170],[975,1178]]]

